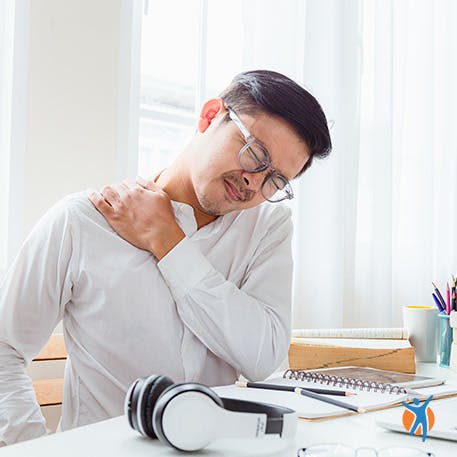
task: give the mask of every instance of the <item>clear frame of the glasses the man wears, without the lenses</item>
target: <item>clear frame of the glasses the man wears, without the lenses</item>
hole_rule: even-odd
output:
[[[238,161],[240,163],[240,166],[243,168],[243,165],[241,164],[241,155],[243,154],[243,152],[252,143],[257,144],[257,146],[260,147],[263,150],[263,152],[265,153],[265,157],[267,160],[263,161],[263,165],[259,169],[256,169],[255,171],[246,170],[245,168],[243,168],[243,170],[247,171],[248,173],[260,173],[267,169],[271,170],[271,172],[267,176],[265,176],[264,180],[262,181],[262,185],[260,186],[262,196],[265,198],[265,200],[269,201],[270,203],[279,203],[284,200],[292,200],[292,198],[294,198],[294,192],[292,190],[292,185],[290,184],[290,181],[286,177],[284,177],[283,175],[278,173],[276,168],[273,166],[273,164],[271,163],[271,156],[270,156],[270,153],[268,152],[267,148],[265,146],[263,146],[263,144],[261,144],[253,135],[251,135],[248,128],[243,124],[242,120],[238,117],[238,115],[232,108],[230,108],[229,106],[225,106],[225,108],[228,111],[228,115],[229,115],[230,119],[238,127],[238,129],[240,130],[240,132],[242,133],[242,135],[244,136],[244,139],[246,141],[246,144],[240,149],[240,152],[238,153]],[[262,162],[260,162],[260,163],[262,163]],[[284,182],[284,187],[282,189],[278,189],[278,190],[284,190],[286,193],[286,196],[281,198],[280,200],[270,200],[269,198],[265,197],[265,195],[263,193],[263,187],[264,187],[265,183],[272,177],[279,178],[280,180],[282,180]],[[274,183],[274,181],[273,181],[273,183]]]

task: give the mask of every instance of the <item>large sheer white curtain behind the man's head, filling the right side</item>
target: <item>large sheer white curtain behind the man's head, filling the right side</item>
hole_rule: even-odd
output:
[[[333,125],[294,183],[294,327],[401,325],[457,272],[457,2],[248,4],[245,66],[304,84]]]

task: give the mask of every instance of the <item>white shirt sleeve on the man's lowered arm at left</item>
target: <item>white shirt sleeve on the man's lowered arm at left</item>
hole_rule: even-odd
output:
[[[73,252],[70,209],[61,201],[32,230],[0,287],[0,442],[47,433],[24,368],[62,318]]]

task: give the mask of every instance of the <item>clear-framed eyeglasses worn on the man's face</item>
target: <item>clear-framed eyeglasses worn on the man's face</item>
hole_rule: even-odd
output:
[[[263,180],[261,192],[265,200],[277,203],[282,200],[294,198],[292,186],[287,178],[277,173],[271,164],[270,154],[250,133],[241,119],[231,108],[227,107],[229,117],[240,129],[246,140],[246,144],[240,149],[238,160],[241,168],[248,173],[260,173],[267,169],[271,170]]]

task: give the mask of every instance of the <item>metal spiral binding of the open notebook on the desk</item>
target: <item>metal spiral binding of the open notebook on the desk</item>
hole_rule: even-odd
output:
[[[407,390],[402,386],[382,382],[369,382],[361,379],[343,378],[342,376],[332,376],[313,371],[286,370],[283,378],[295,379],[297,381],[313,382],[315,384],[325,384],[327,386],[345,387],[346,389],[364,390],[366,392],[379,392],[388,394],[406,394]]]

